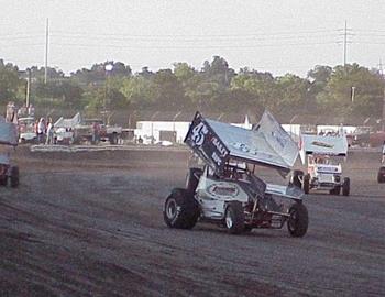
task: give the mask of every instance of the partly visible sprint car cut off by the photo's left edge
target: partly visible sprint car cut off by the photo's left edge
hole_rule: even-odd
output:
[[[16,124],[0,119],[0,186],[19,186],[19,167],[11,165],[12,148],[18,145]]]

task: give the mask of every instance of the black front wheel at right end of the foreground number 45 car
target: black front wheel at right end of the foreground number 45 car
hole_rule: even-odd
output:
[[[295,202],[289,209],[289,215],[287,229],[290,235],[295,238],[304,237],[309,226],[309,216],[306,206],[301,202]]]

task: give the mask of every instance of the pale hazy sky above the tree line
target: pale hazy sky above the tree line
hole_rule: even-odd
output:
[[[383,0],[0,0],[0,58],[66,74],[106,61],[134,72],[218,55],[237,72],[306,77],[316,65],[385,64]],[[348,30],[344,31],[346,22]],[[385,67],[385,66],[384,66]]]

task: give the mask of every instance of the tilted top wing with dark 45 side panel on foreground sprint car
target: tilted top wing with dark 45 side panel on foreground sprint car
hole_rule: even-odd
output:
[[[234,160],[287,174],[298,156],[297,144],[268,111],[252,130],[205,119],[197,112],[185,143],[218,173]]]

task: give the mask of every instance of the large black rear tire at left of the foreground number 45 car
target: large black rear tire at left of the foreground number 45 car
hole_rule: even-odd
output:
[[[186,189],[173,189],[166,199],[163,218],[169,228],[191,229],[199,218],[198,204]]]

